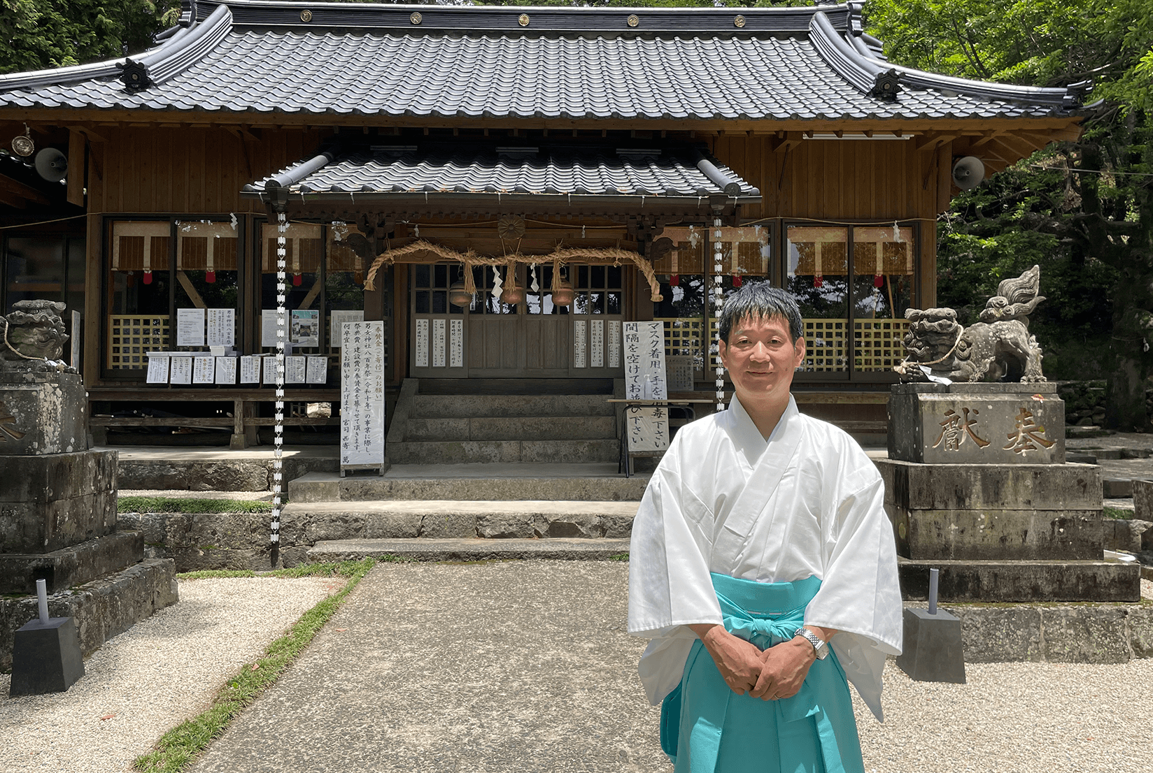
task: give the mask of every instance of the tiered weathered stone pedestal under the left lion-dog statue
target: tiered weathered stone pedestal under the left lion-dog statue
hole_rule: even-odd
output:
[[[126,622],[130,626],[176,600],[171,560],[144,573],[130,571],[144,558],[143,536],[116,529],[118,454],[89,450],[86,404],[76,373],[0,371],[0,593],[30,594],[36,581],[45,579],[48,593],[59,594],[48,599],[50,608],[68,607],[82,628],[85,652],[125,630]],[[141,577],[145,582],[137,582]],[[113,594],[114,604],[105,605],[93,592],[91,604],[69,607],[69,599],[89,598],[85,589],[97,585],[131,591],[122,598]],[[25,629],[33,631],[28,636],[36,642],[47,634],[36,629],[38,622],[29,623],[36,617],[35,605],[9,597],[0,606],[3,667],[14,662],[14,647]],[[75,641],[77,630],[70,630]],[[14,695],[16,687],[14,672]]]

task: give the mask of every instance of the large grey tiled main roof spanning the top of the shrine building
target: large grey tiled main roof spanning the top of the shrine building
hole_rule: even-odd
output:
[[[0,76],[0,107],[944,119],[1067,115],[1078,97],[1076,89],[894,68],[861,35],[857,5],[627,9],[186,0],[183,23],[160,46],[128,61]]]

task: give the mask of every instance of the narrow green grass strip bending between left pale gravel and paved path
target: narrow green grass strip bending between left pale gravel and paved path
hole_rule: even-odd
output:
[[[216,697],[208,711],[193,719],[178,725],[164,734],[156,745],[156,749],[146,755],[137,757],[133,767],[142,773],[180,773],[186,770],[196,757],[204,751],[212,738],[218,737],[228,727],[228,723],[246,706],[251,704],[267,688],[272,687],[288,665],[295,660],[306,646],[316,636],[316,632],[324,627],[324,623],[336,614],[345,597],[356,586],[356,584],[368,574],[376,563],[374,559],[363,561],[340,561],[330,563],[310,563],[292,569],[278,569],[265,573],[262,576],[276,577],[347,577],[348,582],[344,589],[324,599],[315,607],[306,612],[292,629],[274,641],[264,651],[264,655],[255,664],[247,664],[241,667],[235,676],[228,680]],[[250,577],[256,573],[240,571],[190,571],[178,575],[181,578],[196,577]]]

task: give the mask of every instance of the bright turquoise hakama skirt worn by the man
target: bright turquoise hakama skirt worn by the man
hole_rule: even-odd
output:
[[[764,650],[791,639],[817,577],[758,583],[713,574],[724,627]],[[829,652],[791,698],[733,692],[700,641],[661,708],[661,745],[676,773],[864,773],[845,672]]]

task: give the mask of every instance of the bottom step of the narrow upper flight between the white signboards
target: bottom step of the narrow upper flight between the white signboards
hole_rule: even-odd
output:
[[[394,464],[613,462],[620,444],[616,439],[406,441],[390,442],[387,454]]]

